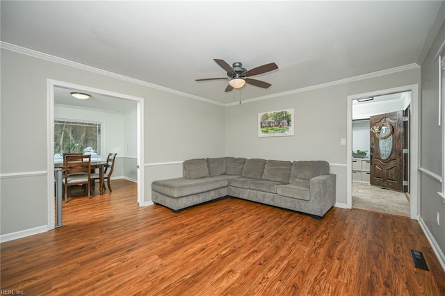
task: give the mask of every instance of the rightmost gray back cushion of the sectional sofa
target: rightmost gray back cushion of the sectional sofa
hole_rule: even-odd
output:
[[[327,161],[293,161],[289,183],[309,185],[310,179],[321,174],[329,174]]]

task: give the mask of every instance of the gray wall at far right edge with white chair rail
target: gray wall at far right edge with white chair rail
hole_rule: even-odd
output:
[[[439,62],[435,55],[445,40],[445,24],[442,24],[435,42],[421,65],[421,222],[424,222],[436,248],[445,253],[445,204],[437,194],[442,190],[441,182],[435,175],[442,177],[442,128],[438,125],[439,104]],[[444,106],[442,106],[443,108]],[[443,109],[442,109],[443,112]],[[443,117],[443,116],[442,116]],[[442,118],[444,124],[444,118]],[[427,174],[430,172],[432,174]],[[440,226],[436,213],[440,213]],[[445,263],[445,258],[442,258]]]

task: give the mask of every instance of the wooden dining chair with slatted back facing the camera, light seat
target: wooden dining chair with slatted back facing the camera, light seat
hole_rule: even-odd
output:
[[[69,186],[85,186],[88,190],[88,198],[91,197],[91,156],[90,155],[65,155],[63,156],[65,176],[63,188],[65,190],[65,202],[68,198]]]

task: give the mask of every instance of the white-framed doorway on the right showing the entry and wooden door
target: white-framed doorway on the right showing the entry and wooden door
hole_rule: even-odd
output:
[[[417,85],[348,97],[349,208],[417,219]]]

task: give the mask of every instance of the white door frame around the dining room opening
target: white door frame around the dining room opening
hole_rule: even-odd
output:
[[[95,92],[97,94],[104,94],[120,99],[128,99],[136,101],[137,110],[137,165],[138,165],[138,206],[144,206],[145,196],[145,179],[144,179],[144,99],[142,97],[134,97],[128,94],[120,94],[118,92],[111,92],[108,90],[101,90],[98,88],[90,88],[85,85],[77,85],[74,83],[67,83],[64,81],[56,81],[54,79],[47,79],[47,192],[48,192],[48,230],[54,229],[55,221],[55,203],[54,203],[54,88],[56,86],[62,88],[75,88],[84,92]]]

